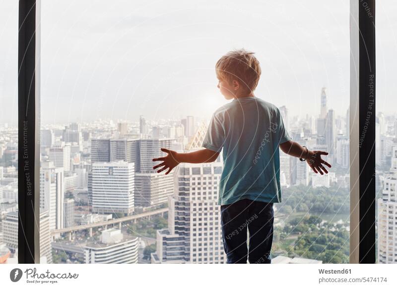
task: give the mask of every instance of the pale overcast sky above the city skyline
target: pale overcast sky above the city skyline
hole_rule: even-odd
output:
[[[248,4],[249,3],[249,4]],[[0,122],[17,115],[17,1],[0,1]],[[397,101],[397,3],[377,1],[377,111]],[[349,102],[349,1],[42,0],[42,123],[210,117],[214,65],[256,52],[256,96],[291,115]]]

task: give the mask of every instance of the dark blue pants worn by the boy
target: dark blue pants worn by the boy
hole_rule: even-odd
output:
[[[273,242],[273,203],[241,199],[221,205],[223,247],[227,263],[269,264]],[[249,247],[247,248],[247,229]]]

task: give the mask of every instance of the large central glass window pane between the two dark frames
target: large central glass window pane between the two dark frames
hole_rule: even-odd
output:
[[[243,191],[263,191],[267,180],[279,179],[271,258],[348,262],[349,3],[232,2],[42,1],[41,209],[49,213],[54,263],[226,261],[218,198],[228,154],[210,164],[182,163],[169,175],[151,167],[152,158],[167,155],[160,148],[202,148],[213,113],[233,101],[219,93],[215,75],[215,63],[233,48],[255,52],[262,68],[255,95],[278,108],[292,140],[328,151],[332,165],[317,175],[277,150],[271,157],[279,155],[279,167],[266,170],[265,153],[255,158],[259,147],[243,151],[239,160],[259,159],[256,168],[265,172],[239,166]],[[228,130],[214,129],[217,144],[225,144]],[[268,135],[257,131],[258,143]],[[246,142],[255,145],[239,144]],[[120,219],[164,207],[173,213]],[[121,224],[106,225],[109,219]],[[200,233],[190,236],[190,227]],[[191,256],[189,247],[207,243],[201,232],[208,231],[214,249]],[[113,234],[123,239],[125,258],[97,251],[115,244]]]

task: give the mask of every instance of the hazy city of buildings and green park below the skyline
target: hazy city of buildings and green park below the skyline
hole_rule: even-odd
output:
[[[336,115],[327,88],[318,114],[279,107],[292,139],[328,151],[319,175],[280,151],[283,201],[274,205],[272,263],[349,262],[349,109]],[[201,148],[207,122],[97,119],[42,125],[40,263],[225,263],[215,162],[156,173],[161,147]],[[209,120],[209,119],[208,119]],[[377,263],[397,263],[397,119],[377,114]],[[17,128],[0,124],[0,259],[17,263]],[[298,160],[298,161],[297,161]]]

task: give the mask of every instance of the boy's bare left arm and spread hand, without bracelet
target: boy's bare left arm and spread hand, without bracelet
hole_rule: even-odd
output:
[[[213,162],[216,160],[216,158],[218,158],[219,155],[219,152],[215,152],[207,148],[189,153],[178,153],[176,151],[169,150],[166,148],[161,148],[161,151],[166,152],[167,156],[152,159],[152,161],[163,161],[160,164],[153,166],[153,169],[157,169],[164,166],[161,169],[157,170],[157,173],[160,173],[165,169],[169,168],[168,171],[165,172],[165,174],[170,173],[171,170],[174,169],[179,163]]]

